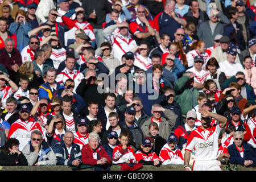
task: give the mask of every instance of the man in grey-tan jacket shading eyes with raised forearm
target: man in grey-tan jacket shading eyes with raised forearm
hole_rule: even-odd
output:
[[[163,114],[164,117],[163,117]],[[152,105],[151,109],[152,117],[148,118],[147,121],[143,123],[141,129],[144,135],[148,134],[148,126],[151,122],[155,122],[159,125],[159,135],[164,139],[168,139],[170,132],[174,129],[177,115],[169,109],[164,109],[159,104]]]

